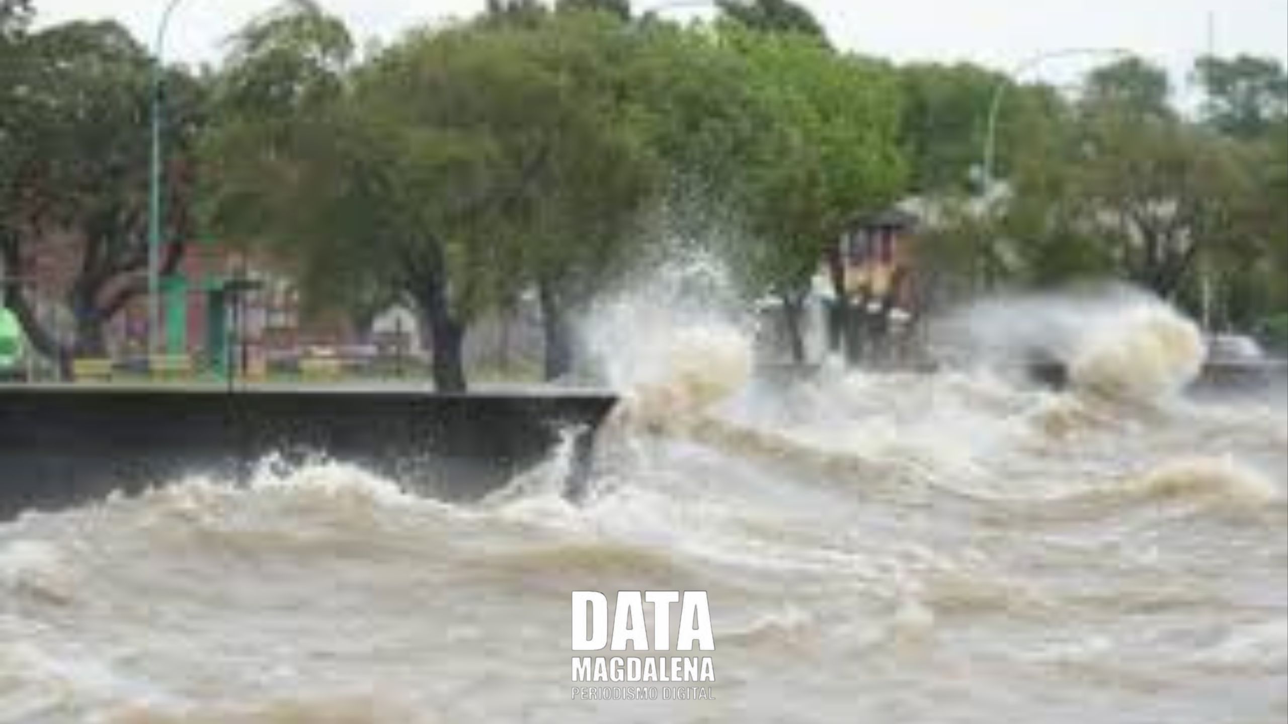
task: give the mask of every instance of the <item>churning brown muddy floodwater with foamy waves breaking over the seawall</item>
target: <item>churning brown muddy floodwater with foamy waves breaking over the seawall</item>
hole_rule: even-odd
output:
[[[770,389],[676,331],[580,505],[556,453],[474,505],[335,464],[27,514],[0,721],[1282,723],[1282,390],[1186,399],[1190,327],[1119,322],[1066,393]],[[708,591],[715,698],[572,701],[574,590]]]

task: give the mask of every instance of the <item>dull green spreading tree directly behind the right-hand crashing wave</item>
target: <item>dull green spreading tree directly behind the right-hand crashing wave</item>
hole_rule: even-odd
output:
[[[1140,61],[1100,68],[1060,143],[1021,165],[1006,228],[1032,281],[1109,272],[1191,303],[1203,255],[1247,242],[1242,152],[1180,117],[1168,93]]]

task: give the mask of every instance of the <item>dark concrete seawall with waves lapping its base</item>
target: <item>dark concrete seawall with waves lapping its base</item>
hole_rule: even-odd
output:
[[[614,403],[563,390],[0,386],[0,520],[189,474],[237,479],[269,455],[325,455],[473,500],[549,455],[563,430],[582,430],[589,451]]]

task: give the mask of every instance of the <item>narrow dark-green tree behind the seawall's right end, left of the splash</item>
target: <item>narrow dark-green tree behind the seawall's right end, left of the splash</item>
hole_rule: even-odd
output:
[[[507,254],[522,263],[513,286],[537,291],[549,379],[573,370],[572,319],[632,263],[640,219],[661,197],[661,158],[631,93],[648,40],[611,17],[562,13],[529,39],[529,62],[559,79],[549,100],[558,112],[546,117],[549,161],[510,215]]]

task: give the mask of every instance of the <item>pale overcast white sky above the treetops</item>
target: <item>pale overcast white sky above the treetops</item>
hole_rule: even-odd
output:
[[[151,41],[165,0],[36,0],[43,23],[113,17]],[[412,24],[466,17],[484,0],[321,0],[361,40],[392,37]],[[169,54],[215,61],[223,40],[276,0],[183,0]],[[663,3],[636,0],[636,9]],[[1288,0],[804,0],[846,49],[899,61],[974,61],[1012,68],[1061,48],[1128,48],[1167,66],[1184,82],[1215,28],[1220,54],[1256,53],[1288,62]],[[1209,23],[1211,18],[1211,23]],[[1091,58],[1042,63],[1033,73],[1069,82]]]

